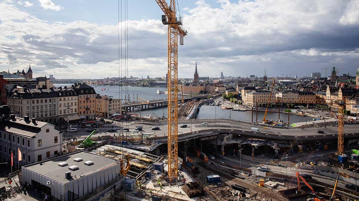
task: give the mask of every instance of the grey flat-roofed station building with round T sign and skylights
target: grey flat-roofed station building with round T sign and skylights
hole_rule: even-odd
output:
[[[120,163],[95,153],[80,151],[22,167],[22,182],[45,189],[60,201],[98,200],[120,188]]]

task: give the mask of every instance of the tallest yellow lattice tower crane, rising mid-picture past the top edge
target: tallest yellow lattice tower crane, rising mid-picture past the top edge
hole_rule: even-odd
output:
[[[168,25],[167,35],[167,124],[168,124],[168,180],[177,179],[178,163],[178,34],[180,34],[180,44],[183,45],[183,37],[187,31],[182,28],[182,19],[176,17],[175,0],[171,0],[170,6],[165,0],[155,0],[164,15],[162,23]]]

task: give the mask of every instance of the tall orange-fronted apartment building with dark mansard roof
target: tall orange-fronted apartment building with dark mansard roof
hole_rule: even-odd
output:
[[[71,88],[76,90],[79,98],[78,115],[81,119],[95,119],[95,100],[96,92],[93,87],[87,84],[75,83]]]

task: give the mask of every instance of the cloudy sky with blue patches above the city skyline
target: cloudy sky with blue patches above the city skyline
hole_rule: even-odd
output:
[[[323,68],[330,75],[333,65],[339,74],[356,74],[359,0],[177,1],[177,16],[188,31],[178,48],[180,78],[193,77],[195,62],[200,77],[220,72],[261,77],[264,69],[268,77],[312,72],[324,77]],[[163,77],[167,26],[162,14],[153,0],[0,0],[0,71],[26,72],[31,63],[36,77]]]

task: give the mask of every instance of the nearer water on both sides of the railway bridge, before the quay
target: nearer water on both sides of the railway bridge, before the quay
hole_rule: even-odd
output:
[[[202,105],[197,114],[197,119],[215,119],[215,118],[230,118],[243,122],[252,122],[252,111],[231,111],[229,109],[221,109],[220,106],[206,106]],[[258,111],[258,121],[261,122],[264,117],[264,113],[262,111]],[[167,108],[155,108],[150,111],[141,111],[141,115],[143,116],[156,116],[156,117],[167,117]],[[268,120],[277,121],[278,113],[268,112],[267,117]],[[288,121],[287,113],[280,113],[280,118],[283,119],[284,122]],[[289,114],[289,120],[292,123],[296,122],[305,122],[306,117],[297,116],[295,114]],[[253,111],[253,122],[256,121],[256,111]]]

